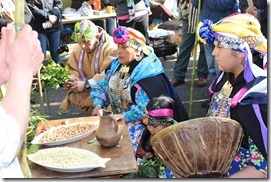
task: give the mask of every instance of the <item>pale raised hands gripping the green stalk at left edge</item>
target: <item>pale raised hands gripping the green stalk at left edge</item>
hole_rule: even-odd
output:
[[[8,24],[2,30],[4,33],[2,42],[6,44],[4,61],[6,64],[3,64],[3,67],[8,69],[4,70],[4,76],[10,79],[12,76],[25,77],[27,74],[31,74],[31,76],[37,74],[44,60],[38,33],[33,31],[28,24],[23,26],[19,37],[16,39],[13,25]],[[3,67],[1,63],[1,69]]]

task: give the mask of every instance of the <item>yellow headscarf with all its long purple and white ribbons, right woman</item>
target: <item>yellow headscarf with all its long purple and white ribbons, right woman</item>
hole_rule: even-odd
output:
[[[247,97],[260,98],[257,95],[261,95],[262,102],[265,101],[267,71],[253,63],[251,51],[261,53],[264,66],[267,65],[267,40],[261,32],[259,21],[249,14],[233,14],[215,24],[210,20],[204,20],[199,24],[197,33],[203,43],[213,43],[245,54],[244,79],[248,83],[248,90],[238,102],[246,104]],[[260,114],[259,103],[259,100],[254,99],[252,106],[259,120],[265,151],[267,151],[267,127]]]

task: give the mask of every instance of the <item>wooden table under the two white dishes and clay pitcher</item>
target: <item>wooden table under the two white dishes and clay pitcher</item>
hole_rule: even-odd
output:
[[[45,121],[44,123],[40,122],[37,126],[37,134],[41,132],[42,128],[51,128],[54,126],[61,125],[61,123],[69,120],[70,122],[92,122],[93,124],[99,124],[99,117],[81,117],[81,118],[68,118],[60,120],[50,120]],[[76,147],[81,149],[86,149],[98,154],[102,158],[111,158],[105,164],[105,168],[96,168],[90,171],[85,172],[75,172],[75,173],[66,173],[66,172],[57,172],[48,170],[40,165],[29,162],[29,167],[32,172],[33,178],[86,178],[86,177],[110,177],[110,176],[120,176],[127,173],[135,173],[138,171],[135,154],[130,142],[130,137],[125,123],[121,120],[118,122],[119,128],[122,131],[122,137],[119,141],[120,147],[111,147],[105,148],[102,147],[97,141],[91,144],[88,144],[88,141],[95,137],[95,132],[90,136],[75,141],[72,143],[59,145],[59,146],[68,146]],[[40,149],[49,148],[46,146],[41,146]]]

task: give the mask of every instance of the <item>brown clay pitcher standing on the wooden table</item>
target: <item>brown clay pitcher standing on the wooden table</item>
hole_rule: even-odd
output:
[[[100,109],[99,113],[100,123],[96,130],[97,141],[104,147],[115,146],[121,137],[118,122],[112,112]]]

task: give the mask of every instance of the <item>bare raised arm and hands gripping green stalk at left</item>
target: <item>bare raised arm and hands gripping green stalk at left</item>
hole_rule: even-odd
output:
[[[4,59],[0,57],[0,72],[4,72],[6,76],[1,79],[4,78],[4,81],[8,82],[7,93],[0,105],[6,115],[14,118],[19,126],[20,145],[17,149],[19,152],[28,126],[33,75],[41,68],[44,56],[38,34],[32,31],[29,25],[24,25],[16,40],[14,26],[8,24],[7,27],[2,28],[0,49],[2,53],[5,52]]]

